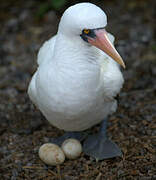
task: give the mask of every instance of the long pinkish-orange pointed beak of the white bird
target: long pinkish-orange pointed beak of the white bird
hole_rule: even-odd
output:
[[[104,29],[96,29],[94,30],[96,35],[95,38],[88,37],[88,42],[93,46],[104,51],[110,57],[112,57],[117,63],[119,63],[123,68],[125,68],[125,63],[122,60],[121,56],[114,48],[113,44],[110,42],[107,36],[107,32]]]

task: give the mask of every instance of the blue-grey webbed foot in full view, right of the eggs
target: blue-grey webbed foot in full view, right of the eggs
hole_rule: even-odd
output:
[[[119,147],[108,139],[106,135],[107,121],[102,122],[100,131],[95,135],[90,135],[85,140],[83,145],[83,152],[96,160],[103,160],[122,156]]]

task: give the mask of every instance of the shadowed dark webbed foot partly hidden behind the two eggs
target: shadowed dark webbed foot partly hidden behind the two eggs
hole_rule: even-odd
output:
[[[83,141],[87,137],[86,132],[66,132],[63,134],[63,136],[52,138],[51,142],[54,144],[57,144],[59,146],[62,145],[62,143],[69,138],[74,138],[79,140],[80,142]]]

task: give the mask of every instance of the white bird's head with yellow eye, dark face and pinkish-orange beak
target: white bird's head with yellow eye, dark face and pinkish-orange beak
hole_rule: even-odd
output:
[[[64,12],[58,32],[99,48],[125,68],[121,56],[107,36],[106,25],[107,16],[102,9],[92,3],[78,3]]]

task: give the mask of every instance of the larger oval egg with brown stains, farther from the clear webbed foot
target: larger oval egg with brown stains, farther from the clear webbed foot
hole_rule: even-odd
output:
[[[52,143],[46,143],[40,147],[39,157],[44,163],[52,166],[62,164],[65,160],[62,149]]]

